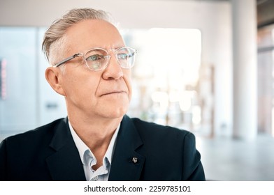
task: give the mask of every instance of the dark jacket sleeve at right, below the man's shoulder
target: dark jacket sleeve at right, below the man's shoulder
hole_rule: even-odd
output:
[[[203,171],[203,165],[201,164],[201,155],[196,150],[196,142],[194,134],[189,132],[185,136],[183,146],[183,173],[182,180],[189,181],[204,181],[205,173]]]

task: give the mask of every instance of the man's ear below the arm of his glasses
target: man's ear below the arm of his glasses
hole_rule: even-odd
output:
[[[62,73],[59,68],[49,67],[45,70],[45,79],[47,79],[50,86],[54,91],[60,95],[66,96],[66,93],[62,87]]]

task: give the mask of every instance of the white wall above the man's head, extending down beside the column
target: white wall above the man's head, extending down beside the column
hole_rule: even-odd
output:
[[[196,28],[202,32],[202,63],[215,65],[215,131],[231,134],[232,54],[229,1],[1,0],[0,26],[49,26],[71,8],[110,12],[122,28]],[[227,125],[227,129],[220,128]]]

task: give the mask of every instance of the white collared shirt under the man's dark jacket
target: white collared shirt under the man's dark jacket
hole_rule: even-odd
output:
[[[92,166],[96,164],[97,159],[92,153],[91,150],[85,145],[85,143],[78,137],[78,134],[73,130],[71,123],[69,122],[69,129],[71,130],[71,134],[73,137],[73,141],[78,149],[82,166],[85,171],[85,177],[87,181],[107,181],[110,173],[111,160],[113,159],[113,151],[115,148],[117,134],[120,129],[120,125],[115,130],[113,137],[110,140],[110,144],[108,146],[108,150],[106,150],[106,154],[103,156],[103,165],[99,167],[96,171],[92,169]]]

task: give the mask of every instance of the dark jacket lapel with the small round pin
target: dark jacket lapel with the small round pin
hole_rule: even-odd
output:
[[[136,152],[143,145],[132,120],[124,116],[111,163],[108,180],[140,180],[145,157]]]

